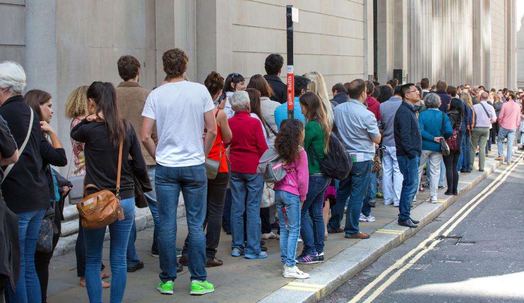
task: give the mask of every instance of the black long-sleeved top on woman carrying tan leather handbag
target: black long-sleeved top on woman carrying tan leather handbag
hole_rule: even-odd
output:
[[[120,197],[122,199],[135,196],[133,173],[140,175],[147,172],[146,161],[138,143],[133,126],[128,124],[126,138],[122,148],[122,170],[120,174]],[[116,176],[118,169],[119,146],[114,147],[109,138],[109,131],[104,122],[88,122],[83,119],[71,130],[71,138],[85,143],[85,185],[94,184],[100,190],[107,189],[116,194]],[[131,156],[133,159],[127,161]],[[130,163],[133,165],[130,167]],[[95,188],[88,188],[88,195],[96,193]]]

